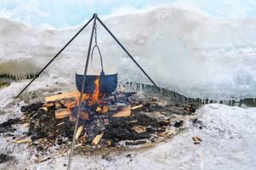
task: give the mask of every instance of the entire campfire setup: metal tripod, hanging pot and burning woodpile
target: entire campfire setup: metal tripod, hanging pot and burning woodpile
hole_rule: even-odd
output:
[[[21,111],[24,112],[25,117],[22,120],[14,121],[14,123],[22,122],[29,127],[26,137],[14,139],[14,142],[27,142],[32,148],[36,147],[38,152],[44,152],[54,145],[66,146],[71,143],[68,169],[71,169],[75,143],[79,144],[80,148],[87,149],[155,144],[170,135],[179,133],[184,127],[184,121],[174,116],[174,113],[190,114],[195,111],[194,105],[187,107],[185,105],[168,105],[167,102],[163,102],[162,99],[157,99],[155,96],[124,91],[122,88],[116,90],[117,74],[107,75],[103,69],[103,59],[97,45],[97,21],[134,61],[139,70],[155,86],[157,92],[161,92],[156,83],[122,46],[122,43],[117,40],[117,37],[105,26],[97,14],[94,14],[92,19],[60,49],[60,52],[39,71],[38,75],[20,91],[20,94],[39,77],[91,21],[94,23],[84,73],[83,75],[76,74],[78,91],[49,96],[45,98],[44,102],[22,106]],[[94,47],[92,48],[93,39]],[[87,74],[88,61],[90,57],[93,59],[94,49],[97,49],[100,54],[100,75]],[[10,126],[12,122],[4,122],[0,127]],[[9,130],[13,131],[14,129],[10,128]]]

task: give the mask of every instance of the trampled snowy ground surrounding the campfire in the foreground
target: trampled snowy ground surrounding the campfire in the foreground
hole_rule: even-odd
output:
[[[45,88],[43,81],[33,90],[50,91],[56,85]],[[20,116],[23,102],[14,100],[23,83],[13,83],[0,90],[1,122],[9,117]],[[53,88],[58,91],[58,88]],[[12,93],[11,91],[14,90]],[[191,118],[201,123],[192,123]],[[256,108],[238,108],[226,105],[204,105],[194,116],[188,116],[187,128],[172,139],[143,150],[115,151],[109,154],[88,156],[76,155],[72,169],[255,169],[256,168]],[[200,129],[199,127],[202,127]],[[22,133],[26,129],[19,129]],[[193,144],[192,136],[202,139]],[[11,143],[12,139],[0,138],[0,152],[14,159],[0,164],[1,169],[65,169],[68,155],[57,155],[54,159],[34,163],[34,153],[26,144]]]

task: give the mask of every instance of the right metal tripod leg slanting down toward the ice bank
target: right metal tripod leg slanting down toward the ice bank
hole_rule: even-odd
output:
[[[145,74],[145,77],[147,77],[147,78],[152,82],[152,84],[153,84],[153,85],[159,90],[159,92],[160,92],[160,91],[161,91],[160,88],[158,88],[158,87],[156,86],[156,83],[155,83],[155,82],[151,79],[151,77],[149,77],[149,75],[143,70],[143,68],[139,65],[139,63],[137,63],[137,61],[134,59],[134,57],[133,57],[131,54],[129,54],[128,50],[122,46],[122,43],[117,40],[117,37],[115,37],[115,36],[112,34],[112,32],[105,26],[105,24],[100,20],[99,17],[97,17],[97,20],[99,20],[100,24],[105,28],[105,30],[108,31],[108,33],[110,33],[111,37],[113,37],[113,38],[116,40],[116,42],[120,45],[120,47],[123,49],[123,51],[125,51],[125,53],[128,54],[128,56],[130,57],[130,59],[132,59],[132,60],[134,61],[134,63],[139,67],[140,71],[142,71],[142,72]]]

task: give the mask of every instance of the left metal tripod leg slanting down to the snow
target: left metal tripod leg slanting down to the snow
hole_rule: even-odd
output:
[[[29,82],[29,83],[26,85],[26,87],[23,88],[23,89],[20,91],[20,94],[22,94],[22,93],[26,90],[26,88],[28,88],[28,87],[31,85],[31,83],[34,82],[34,81],[37,79],[37,77],[40,76],[40,74],[48,67],[48,65],[50,65],[50,64],[54,61],[54,59],[56,59],[56,58],[59,56],[59,54],[60,54],[60,53],[61,53],[61,52],[62,52],[79,34],[80,34],[80,32],[81,32],[86,26],[88,26],[88,24],[89,24],[93,19],[94,19],[94,17],[92,17],[90,20],[88,20],[88,22],[87,22],[84,26],[82,26],[82,28],[81,28],[79,31],[77,31],[77,34],[76,34],[75,36],[73,36],[73,37],[71,38],[71,40],[70,40],[69,42],[67,42],[67,43],[65,44],[65,46],[64,46],[63,48],[61,48],[60,51],[59,51],[57,54],[55,54],[54,58],[51,59],[51,60],[48,62],[48,64],[45,65],[45,66],[43,67],[43,69],[42,69],[41,71],[39,71],[39,73],[31,80],[31,82]],[[20,94],[16,95],[15,99],[17,99],[17,98],[20,96]]]

